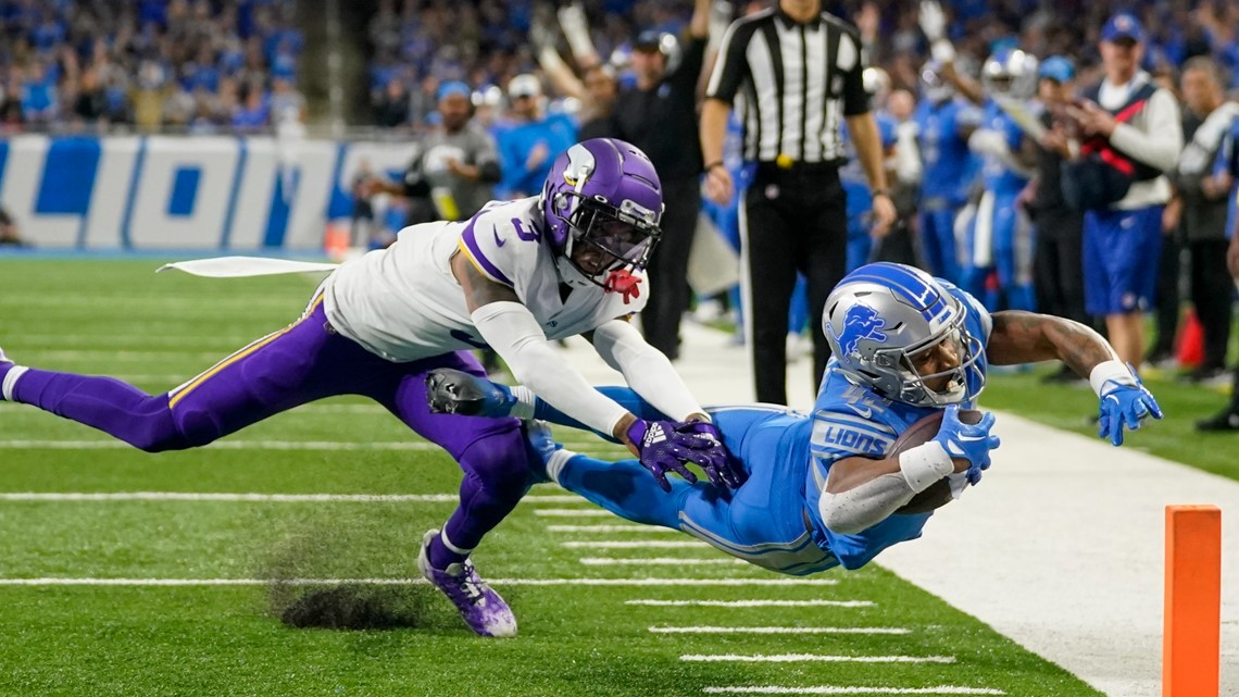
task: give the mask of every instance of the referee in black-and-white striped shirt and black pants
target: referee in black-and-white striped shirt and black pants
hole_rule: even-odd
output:
[[[733,184],[722,143],[740,94],[743,158],[757,164],[741,206],[741,234],[758,402],[787,403],[787,316],[797,270],[809,282],[814,392],[830,357],[820,317],[844,275],[847,243],[841,119],[873,192],[872,233],[885,236],[896,218],[864,68],[859,32],[821,11],[820,0],[779,0],[736,20],[719,47],[701,107],[701,153],[706,195],[726,205]]]

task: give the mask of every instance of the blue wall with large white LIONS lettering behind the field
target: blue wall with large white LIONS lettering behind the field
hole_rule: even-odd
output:
[[[0,139],[0,205],[46,249],[321,249],[363,162],[399,172],[411,143],[268,136]]]

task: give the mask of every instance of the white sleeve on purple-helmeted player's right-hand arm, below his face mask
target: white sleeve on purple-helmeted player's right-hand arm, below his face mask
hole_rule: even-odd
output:
[[[673,420],[705,413],[667,356],[647,344],[631,324],[611,320],[600,326],[593,331],[593,348],[623,373],[633,392]]]

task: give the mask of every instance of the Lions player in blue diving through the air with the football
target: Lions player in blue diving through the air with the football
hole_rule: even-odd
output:
[[[1099,435],[1115,445],[1124,428],[1162,417],[1154,396],[1092,329],[1025,311],[991,315],[971,295],[912,267],[876,263],[847,274],[826,300],[823,324],[834,357],[812,417],[762,404],[710,409],[747,477],[736,491],[674,481],[663,495],[634,461],[564,450],[548,429],[532,425],[544,474],[628,520],[681,530],[755,564],[802,575],[855,569],[919,537],[937,504],[909,506],[918,494],[945,479],[949,501],[980,480],[999,446],[990,435],[994,415],[970,425],[959,409],[975,406],[989,365],[1058,358],[1089,376],[1100,397]],[[432,411],[486,415],[524,408],[581,425],[538,401],[532,411],[515,407],[515,392],[463,373],[436,371],[430,381]],[[602,391],[657,418],[631,391]],[[891,453],[911,424],[939,411],[945,413],[933,439]]]

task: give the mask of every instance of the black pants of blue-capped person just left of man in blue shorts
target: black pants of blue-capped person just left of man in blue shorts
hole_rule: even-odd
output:
[[[1037,211],[1036,223],[1037,310],[1090,324],[1084,311],[1084,216],[1069,208]]]

